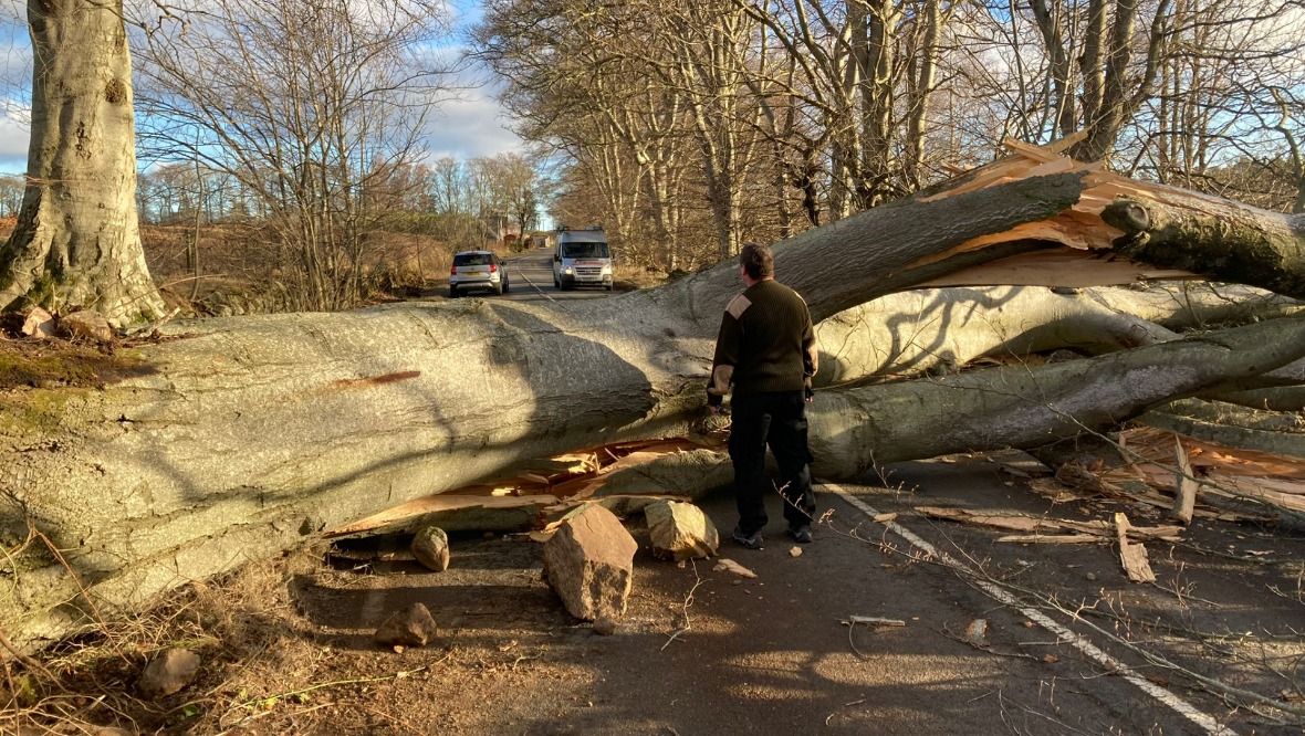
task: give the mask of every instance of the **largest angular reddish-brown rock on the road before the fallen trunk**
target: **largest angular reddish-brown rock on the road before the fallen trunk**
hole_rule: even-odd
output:
[[[572,616],[620,619],[630,595],[636,551],[638,543],[616,514],[590,504],[544,543],[544,575]]]

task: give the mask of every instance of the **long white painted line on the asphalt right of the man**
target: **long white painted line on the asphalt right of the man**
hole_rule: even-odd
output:
[[[880,512],[876,512],[869,504],[852,496],[840,485],[837,485],[834,483],[822,483],[820,485],[822,488],[829,488],[830,491],[837,493],[840,498],[843,498],[844,501],[847,501],[853,508],[859,509],[861,513],[864,513],[870,518],[877,517],[880,514]],[[912,545],[915,545],[925,555],[929,555],[937,560],[942,560],[945,564],[957,568],[958,570],[963,570],[972,575],[975,574],[974,570],[971,570],[963,562],[950,557],[946,552],[938,551],[933,544],[921,539],[914,531],[906,529],[904,526],[897,523],[895,521],[883,522],[883,526],[886,526],[890,531],[893,531],[902,539],[910,542]],[[1071,629],[1062,626],[1061,624],[1056,622],[1053,619],[1051,619],[1041,611],[1037,611],[1036,608],[1028,608],[1027,606],[1022,604],[1019,599],[1006,592],[1001,587],[988,581],[977,579],[977,575],[975,577],[976,577],[975,583],[979,586],[980,590],[987,592],[990,598],[996,599],[998,603],[1002,603],[1004,606],[1009,606],[1019,611],[1030,621],[1034,621],[1039,626],[1056,634],[1056,637],[1061,642],[1073,645],[1074,649],[1079,650],[1081,652],[1095,660],[1101,667],[1117,672],[1121,677],[1137,685],[1142,692],[1147,693],[1148,696],[1160,701],[1161,703],[1169,706],[1171,709],[1177,711],[1180,715],[1182,715],[1191,723],[1199,726],[1203,732],[1210,733],[1211,736],[1236,736],[1236,732],[1228,728],[1227,726],[1220,724],[1212,716],[1197,710],[1195,706],[1174,696],[1169,690],[1165,690],[1164,688],[1156,685],[1155,682],[1147,680],[1146,677],[1141,677],[1139,675],[1133,672],[1126,664],[1124,664],[1118,659],[1114,659],[1105,651],[1100,650],[1096,645],[1087,641],[1086,637],[1081,636],[1079,633]]]

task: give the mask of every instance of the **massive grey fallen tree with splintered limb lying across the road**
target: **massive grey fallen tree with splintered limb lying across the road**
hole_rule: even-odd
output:
[[[1155,192],[1172,191],[1024,151],[949,189],[786,241],[776,270],[817,320],[921,284],[1081,287],[1198,271],[1231,279],[1227,262],[1176,270],[1116,257],[1124,234],[1100,213],[1117,194]],[[1257,217],[1287,227],[1287,218]],[[723,264],[606,300],[174,325],[161,343],[120,350],[103,385],[5,390],[12,592],[0,628],[31,646],[97,608],[134,607],[534,458],[693,435],[720,313],[739,290],[735,271]],[[1305,356],[1300,318],[1177,342],[1134,322],[1134,342],[1096,342],[1144,347],[1082,365],[822,391],[814,470],[846,478],[886,459],[1027,446],[1177,397],[1261,388],[1265,372]],[[917,324],[910,313],[897,320]],[[1009,350],[997,342],[988,352]],[[1101,386],[1121,390],[1104,395]],[[699,454],[719,463],[718,453]]]

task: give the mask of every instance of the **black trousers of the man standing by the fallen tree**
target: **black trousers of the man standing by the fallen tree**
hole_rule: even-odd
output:
[[[729,429],[729,459],[735,468],[739,529],[746,534],[766,526],[766,497],[775,484],[766,476],[766,448],[779,465],[784,519],[790,527],[809,526],[816,515],[812,476],[806,468],[806,401],[803,391],[736,395]]]

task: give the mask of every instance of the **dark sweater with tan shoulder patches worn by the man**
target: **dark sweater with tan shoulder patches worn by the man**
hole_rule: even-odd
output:
[[[711,361],[709,393],[800,391],[816,375],[816,333],[796,291],[766,279],[726,308]]]

